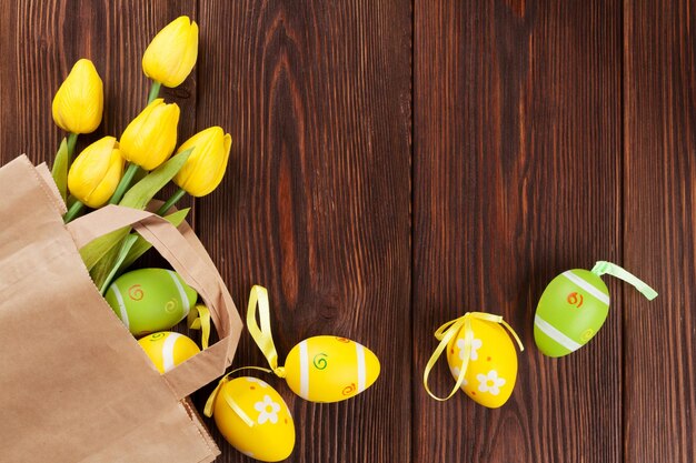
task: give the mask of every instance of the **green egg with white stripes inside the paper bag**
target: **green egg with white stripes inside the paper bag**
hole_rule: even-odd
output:
[[[176,272],[141,269],[119,276],[105,299],[136,335],[169,330],[183,320],[198,294]]]

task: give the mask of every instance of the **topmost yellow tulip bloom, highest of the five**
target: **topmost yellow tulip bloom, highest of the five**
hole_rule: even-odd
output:
[[[160,30],[142,56],[145,74],[165,87],[186,80],[198,58],[198,24],[182,16]]]

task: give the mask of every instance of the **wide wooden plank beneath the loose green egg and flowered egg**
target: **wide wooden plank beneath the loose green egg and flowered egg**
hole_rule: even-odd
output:
[[[559,360],[533,335],[554,276],[622,260],[620,49],[619,1],[416,1],[412,461],[622,461],[619,315]],[[527,348],[501,409],[422,389],[432,332],[467,311]]]

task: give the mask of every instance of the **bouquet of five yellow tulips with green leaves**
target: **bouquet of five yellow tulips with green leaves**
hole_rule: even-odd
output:
[[[232,143],[230,134],[220,127],[211,127],[177,149],[179,107],[158,98],[161,85],[175,88],[186,80],[197,57],[196,22],[180,17],[165,27],[142,57],[142,70],[152,81],[145,109],[119,139],[103,137],[74,160],[78,135],[93,132],[101,123],[103,84],[90,60],[81,59],[73,66],[52,104],[56,124],[68,132],[52,169],[53,180],[68,205],[66,223],[86,208],[119,204],[142,210],[173,181],[177,192],[158,210],[158,214],[165,215],[186,193],[203,197],[220,184]],[[187,212],[176,211],[165,218],[178,225]],[[80,254],[103,294],[117,273],[148,249],[149,244],[139,235],[122,229],[95,240]]]

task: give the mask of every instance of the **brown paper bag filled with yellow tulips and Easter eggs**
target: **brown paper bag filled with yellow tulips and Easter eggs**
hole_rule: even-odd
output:
[[[210,127],[178,140],[180,109],[160,98],[197,56],[196,22],[166,26],[142,57],[151,89],[141,111],[89,143],[78,138],[101,124],[105,85],[78,60],[52,101],[67,133],[51,171],[26,155],[0,167],[2,461],[203,463],[220,453],[188,396],[231,365],[242,323],[188,210],[173,205],[220,184],[231,137]],[[176,192],[155,201],[170,182]],[[123,272],[150,248],[171,270]],[[176,332],[185,321],[200,348]]]

